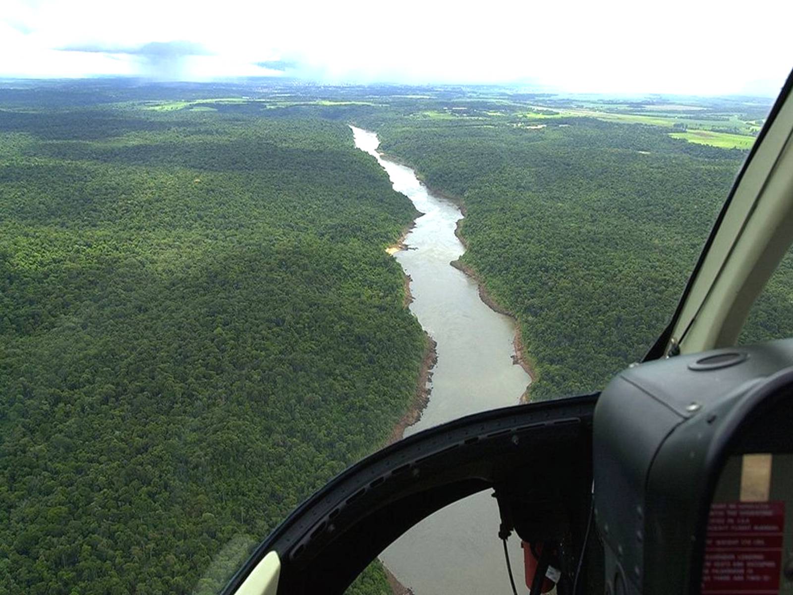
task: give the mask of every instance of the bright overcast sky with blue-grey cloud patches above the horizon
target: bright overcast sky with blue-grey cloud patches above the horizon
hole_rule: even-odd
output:
[[[791,22],[791,0],[0,0],[0,77],[776,95]]]

